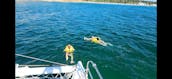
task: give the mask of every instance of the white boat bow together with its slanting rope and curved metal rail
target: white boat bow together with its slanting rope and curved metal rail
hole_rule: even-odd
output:
[[[85,69],[81,61],[78,61],[76,65],[67,65],[67,64],[43,60],[35,57],[25,56],[21,54],[16,54],[16,55],[55,64],[54,66],[16,64],[15,67],[16,79],[33,79],[33,78],[34,79],[88,79],[88,73],[90,78],[93,79],[93,76],[89,69],[90,63],[92,64],[93,68],[96,70],[99,78],[103,79],[96,64],[93,61],[88,61],[87,67]]]

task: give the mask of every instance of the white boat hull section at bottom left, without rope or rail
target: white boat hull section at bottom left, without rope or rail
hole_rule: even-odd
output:
[[[16,78],[33,78],[39,79],[40,76],[47,77],[51,74],[54,79],[88,79],[82,62],[79,61],[77,65],[68,66],[51,66],[51,67],[19,67],[16,65],[15,77]],[[56,74],[56,75],[54,75]],[[56,77],[55,77],[56,76]],[[48,77],[49,78],[49,77]]]

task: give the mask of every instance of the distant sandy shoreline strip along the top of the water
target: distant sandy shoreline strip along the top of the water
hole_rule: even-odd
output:
[[[16,0],[16,1],[22,1],[22,2],[27,2],[28,0]],[[93,1],[81,1],[81,0],[76,0],[76,1],[65,1],[65,0],[29,0],[29,1],[43,1],[43,2],[71,2],[71,3],[93,3],[93,4],[115,4],[115,5],[132,5],[132,6],[157,6],[156,4],[148,5],[145,3],[115,3],[115,2],[93,2]]]

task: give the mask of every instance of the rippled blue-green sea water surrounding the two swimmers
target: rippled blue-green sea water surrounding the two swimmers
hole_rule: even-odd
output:
[[[67,44],[74,61],[97,64],[104,79],[157,78],[157,7],[16,2],[16,53],[64,63]],[[113,46],[84,41],[99,36]],[[18,64],[50,64],[16,56]],[[91,65],[90,65],[91,67]],[[98,79],[91,68],[94,79]]]

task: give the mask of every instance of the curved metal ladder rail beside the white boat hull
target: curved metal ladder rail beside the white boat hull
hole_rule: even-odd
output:
[[[101,76],[101,74],[100,74],[100,72],[99,72],[99,70],[98,70],[96,64],[95,64],[93,61],[88,61],[88,62],[87,62],[87,68],[86,68],[86,70],[88,70],[91,79],[93,79],[93,76],[92,76],[92,74],[91,74],[91,72],[90,72],[90,70],[89,70],[89,64],[90,64],[90,63],[92,64],[92,66],[93,66],[94,69],[96,70],[96,72],[97,72],[99,78],[100,78],[100,79],[103,79],[103,77]]]

